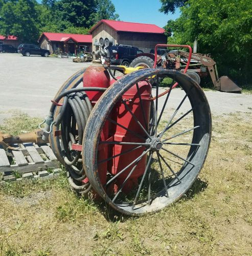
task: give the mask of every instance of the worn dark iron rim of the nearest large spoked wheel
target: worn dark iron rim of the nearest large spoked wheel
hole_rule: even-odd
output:
[[[186,159],[187,164],[182,165],[180,170],[175,173],[174,178],[170,181],[169,184],[166,183],[165,186],[164,183],[164,188],[157,193],[158,195],[155,195],[153,197],[151,204],[149,204],[149,200],[148,202],[145,201],[144,203],[139,200],[138,202],[140,203],[135,204],[132,207],[132,202],[122,204],[120,202],[118,203],[116,200],[113,200],[107,194],[106,190],[101,184],[98,173],[98,146],[100,144],[99,140],[103,125],[116,102],[118,102],[121,96],[129,88],[134,86],[134,84],[153,75],[158,75],[161,77],[167,76],[173,78],[174,80],[179,82],[181,88],[184,89],[184,91],[186,92],[193,109],[193,125],[194,127],[199,127],[199,129],[198,127],[197,129],[193,129],[191,144],[200,144],[200,146],[197,146],[197,149],[195,149],[195,145],[190,146],[190,149],[188,151],[188,158]],[[98,116],[100,116],[101,118],[97,118]],[[96,127],[97,130],[94,130],[94,127]],[[139,70],[127,76],[124,76],[122,79],[114,83],[113,86],[111,86],[96,103],[95,108],[93,109],[93,112],[91,113],[91,116],[86,124],[85,133],[83,136],[83,166],[93,188],[112,208],[126,215],[143,215],[147,214],[148,212],[155,212],[163,209],[167,205],[179,200],[179,198],[181,198],[181,196],[186,193],[186,191],[196,180],[200,169],[205,161],[205,158],[207,157],[210,140],[211,112],[208,101],[205,98],[203,91],[196,82],[194,82],[188,76],[172,70]],[[146,151],[146,154],[148,152],[156,153],[156,151],[148,150]],[[156,155],[158,156],[158,163],[160,163],[161,158],[163,157],[161,157],[161,154],[159,153],[156,153]],[[190,162],[190,164],[188,162]],[[159,167],[160,169],[162,169],[162,164],[159,165]],[[163,180],[165,180],[166,182],[166,178],[163,177]]]

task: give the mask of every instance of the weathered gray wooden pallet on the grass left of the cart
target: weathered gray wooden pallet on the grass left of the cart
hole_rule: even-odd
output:
[[[15,170],[22,174],[59,167],[49,143],[22,143],[15,144],[14,147],[19,147],[19,151],[5,151],[0,148],[0,172],[8,174]]]

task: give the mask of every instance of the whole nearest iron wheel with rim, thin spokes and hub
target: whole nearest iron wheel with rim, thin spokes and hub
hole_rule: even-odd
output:
[[[164,90],[156,84],[146,100],[138,85],[153,75],[157,80],[170,77],[180,88],[161,96]],[[141,108],[141,116],[134,115],[134,106],[123,96],[132,87],[138,90],[138,98],[132,101]],[[125,115],[135,129],[124,126],[125,118],[114,113]],[[113,125],[129,136],[119,140]],[[109,139],[104,139],[107,130]],[[111,207],[123,214],[142,215],[161,210],[186,193],[207,157],[210,139],[209,104],[193,79],[172,70],[139,70],[115,82],[95,105],[83,136],[83,166],[94,190]]]

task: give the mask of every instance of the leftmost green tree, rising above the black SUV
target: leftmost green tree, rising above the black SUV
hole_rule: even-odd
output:
[[[4,1],[0,10],[0,33],[5,36],[14,35],[20,41],[37,41],[39,36],[37,6],[35,0]]]

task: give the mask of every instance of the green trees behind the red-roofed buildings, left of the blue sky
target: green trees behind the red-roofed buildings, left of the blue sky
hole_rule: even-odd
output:
[[[42,32],[87,34],[100,19],[118,19],[111,0],[0,0],[0,34],[35,42]]]

